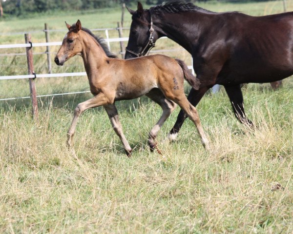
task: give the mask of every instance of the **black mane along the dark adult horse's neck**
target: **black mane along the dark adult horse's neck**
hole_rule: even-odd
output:
[[[163,2],[162,5],[153,6],[149,8],[150,13],[160,14],[160,13],[180,13],[180,12],[190,12],[190,11],[205,11],[211,12],[204,8],[194,5],[191,2],[186,2],[184,0],[171,0],[168,2]]]

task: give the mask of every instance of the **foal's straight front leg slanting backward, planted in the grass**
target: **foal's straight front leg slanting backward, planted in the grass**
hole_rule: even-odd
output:
[[[132,152],[132,149],[123,134],[122,125],[121,125],[119,117],[118,117],[118,112],[117,112],[116,106],[114,104],[110,104],[110,105],[105,105],[104,108],[108,114],[108,117],[111,121],[111,124],[112,124],[112,127],[113,127],[115,133],[118,135],[118,137],[120,138],[120,140],[123,144],[126,155],[129,157]]]

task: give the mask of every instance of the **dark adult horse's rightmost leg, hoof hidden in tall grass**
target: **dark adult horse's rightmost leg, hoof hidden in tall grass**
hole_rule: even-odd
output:
[[[249,126],[253,126],[251,120],[249,120],[244,112],[243,107],[243,96],[241,92],[240,85],[234,85],[234,86],[225,86],[225,90],[228,94],[228,97],[230,98],[230,102],[232,104],[232,108],[234,111],[235,116],[237,119],[244,124],[248,124]]]

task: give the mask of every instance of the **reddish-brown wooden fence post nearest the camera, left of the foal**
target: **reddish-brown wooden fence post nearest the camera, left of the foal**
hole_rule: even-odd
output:
[[[25,43],[31,43],[31,35],[24,34]],[[34,71],[34,60],[33,60],[33,50],[32,47],[26,47],[26,59],[27,59],[27,70],[28,75],[35,74]],[[38,120],[38,100],[37,100],[37,91],[34,78],[29,78],[29,90],[30,96],[33,104],[33,118]]]

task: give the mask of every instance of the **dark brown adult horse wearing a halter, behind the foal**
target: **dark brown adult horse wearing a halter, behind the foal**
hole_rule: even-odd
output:
[[[143,56],[163,36],[183,46],[200,80],[188,100],[194,106],[214,84],[224,85],[235,116],[252,125],[243,108],[242,83],[274,82],[293,75],[293,12],[252,17],[239,12],[214,13],[184,1],[170,1],[132,14],[126,59]],[[177,136],[181,110],[170,132]]]

